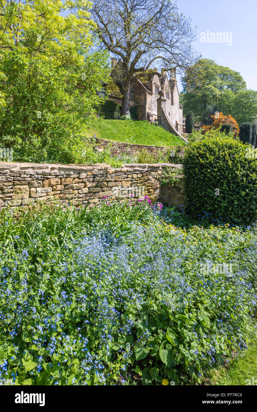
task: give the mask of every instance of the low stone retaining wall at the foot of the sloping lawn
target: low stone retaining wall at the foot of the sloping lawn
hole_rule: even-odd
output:
[[[148,153],[152,153],[154,157],[158,155],[159,152],[166,153],[167,149],[173,149],[176,153],[178,147],[181,147],[180,155],[184,157],[184,147],[186,146],[149,146],[149,145],[136,145],[134,143],[122,143],[114,142],[112,140],[104,140],[94,137],[95,147],[98,150],[103,150],[105,146],[111,145],[112,155],[120,155],[121,153],[127,153],[127,155],[134,156],[142,149],[146,150]]]

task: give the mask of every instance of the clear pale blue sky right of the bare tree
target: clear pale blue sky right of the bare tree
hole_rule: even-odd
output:
[[[179,12],[191,17],[191,26],[197,26],[196,51],[239,72],[247,88],[257,90],[257,0],[177,0],[177,5]],[[228,41],[207,43],[207,30],[215,33],[215,40],[217,32],[228,33]],[[206,34],[206,42],[201,33]],[[182,91],[179,75],[177,80]]]

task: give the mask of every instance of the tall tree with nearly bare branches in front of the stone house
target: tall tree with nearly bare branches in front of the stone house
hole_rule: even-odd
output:
[[[179,73],[197,59],[191,43],[191,19],[179,13],[176,0],[97,0],[92,16],[100,48],[118,56],[114,82],[122,98],[121,114],[130,109],[130,82],[134,73],[151,65]]]

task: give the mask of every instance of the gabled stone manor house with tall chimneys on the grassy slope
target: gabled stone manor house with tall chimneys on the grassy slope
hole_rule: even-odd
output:
[[[111,59],[112,81],[104,83],[108,100],[121,104],[122,96],[113,82],[119,72],[121,60]],[[156,69],[135,73],[130,83],[130,105],[137,107],[138,120],[158,121],[164,129],[180,136],[183,133],[183,106],[179,103],[179,90],[176,73],[168,78],[165,69],[158,73]]]

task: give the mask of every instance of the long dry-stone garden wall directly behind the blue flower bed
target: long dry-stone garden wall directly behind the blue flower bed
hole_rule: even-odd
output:
[[[165,190],[162,169],[181,167],[170,163],[124,164],[115,169],[108,164],[34,164],[0,162],[0,208],[16,208],[31,202],[52,204],[55,199],[78,206],[98,205],[103,197],[135,198],[149,196],[152,201],[184,204],[182,184]],[[167,186],[166,186],[167,187]]]

